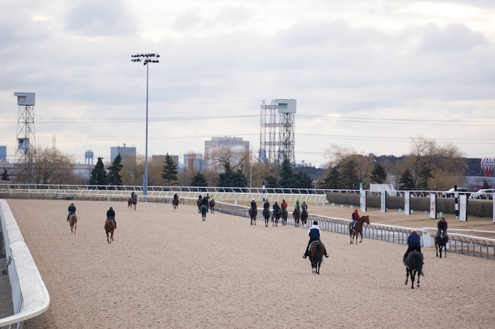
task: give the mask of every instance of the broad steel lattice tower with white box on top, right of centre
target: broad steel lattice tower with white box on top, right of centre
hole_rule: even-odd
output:
[[[277,111],[279,120],[277,121]],[[296,163],[294,146],[294,115],[296,100],[275,99],[261,105],[260,162],[281,163],[288,158]]]

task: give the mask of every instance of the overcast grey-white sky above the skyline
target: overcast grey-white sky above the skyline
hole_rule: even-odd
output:
[[[16,153],[14,92],[36,93],[36,145],[84,162],[111,146],[260,148],[260,106],[297,100],[296,162],[332,144],[409,153],[423,136],[495,156],[495,1],[0,1],[0,145]]]

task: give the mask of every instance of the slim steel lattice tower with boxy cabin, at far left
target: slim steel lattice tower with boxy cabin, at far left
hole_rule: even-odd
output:
[[[24,184],[35,183],[35,93],[13,93],[17,96],[19,115],[17,120],[16,173]]]

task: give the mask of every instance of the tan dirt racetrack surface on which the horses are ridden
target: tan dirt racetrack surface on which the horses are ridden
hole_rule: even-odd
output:
[[[494,260],[424,249],[421,288],[404,286],[405,246],[322,232],[320,275],[301,258],[308,230],[250,226],[197,207],[8,200],[50,292],[36,328],[494,328]],[[103,222],[115,209],[115,241]]]

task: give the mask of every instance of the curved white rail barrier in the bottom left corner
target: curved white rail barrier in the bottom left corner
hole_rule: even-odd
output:
[[[0,221],[6,258],[11,259],[7,270],[14,307],[13,316],[0,319],[0,328],[11,325],[23,328],[24,321],[47,311],[50,295],[5,200],[0,200]]]

